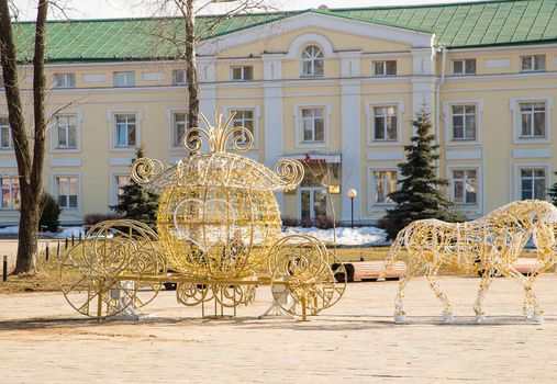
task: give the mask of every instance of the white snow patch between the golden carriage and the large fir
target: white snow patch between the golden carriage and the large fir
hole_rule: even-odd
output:
[[[334,229],[319,229],[315,227],[285,227],[283,235],[310,235],[324,242],[334,241]],[[338,227],[336,228],[336,244],[339,246],[363,246],[383,244],[387,239],[387,233],[377,227]]]

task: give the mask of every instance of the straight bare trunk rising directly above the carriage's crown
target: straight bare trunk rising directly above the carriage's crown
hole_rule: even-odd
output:
[[[186,0],[186,75],[188,77],[188,126],[199,126],[199,82],[196,65],[196,31],[193,0]]]

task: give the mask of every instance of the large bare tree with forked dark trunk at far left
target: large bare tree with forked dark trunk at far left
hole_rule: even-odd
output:
[[[9,122],[20,178],[21,215],[14,274],[36,272],[37,228],[43,194],[43,163],[48,122],[45,118],[45,36],[48,0],[37,0],[33,54],[33,128],[27,128],[21,100],[18,56],[10,4],[0,0],[0,63]]]

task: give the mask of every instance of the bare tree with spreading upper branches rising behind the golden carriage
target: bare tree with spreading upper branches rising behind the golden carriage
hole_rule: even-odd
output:
[[[174,45],[176,58],[185,63],[188,79],[189,126],[199,125],[196,46],[202,38],[211,37],[221,23],[235,15],[277,10],[269,0],[141,0],[140,3],[153,8],[156,15],[178,15],[182,21],[183,34],[176,33],[175,23],[169,23],[168,29],[161,29],[161,24],[157,23],[152,33],[167,45]],[[203,25],[196,27],[196,15],[207,13],[213,4],[221,4],[222,12],[212,18],[205,18]]]

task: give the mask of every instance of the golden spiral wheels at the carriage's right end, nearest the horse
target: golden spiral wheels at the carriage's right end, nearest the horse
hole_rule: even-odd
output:
[[[292,235],[277,241],[270,250],[269,274],[277,305],[287,313],[303,315],[331,307],[344,293],[346,283],[337,283],[335,273],[346,274],[344,267],[333,271],[323,242],[305,235]]]

